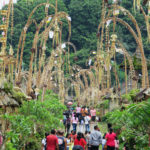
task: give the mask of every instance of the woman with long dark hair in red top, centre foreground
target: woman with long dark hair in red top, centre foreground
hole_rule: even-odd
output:
[[[82,146],[83,150],[85,150],[86,141],[85,141],[85,139],[83,138],[81,132],[78,132],[77,138],[76,138],[75,141],[74,141],[74,145],[80,145],[80,146]]]

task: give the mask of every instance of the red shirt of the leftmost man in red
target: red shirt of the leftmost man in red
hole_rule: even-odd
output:
[[[56,144],[58,144],[58,138],[56,137],[56,135],[49,135],[47,136],[46,140],[47,140],[46,150],[55,150]]]

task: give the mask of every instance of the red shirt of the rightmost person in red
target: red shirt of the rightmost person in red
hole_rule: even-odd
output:
[[[111,146],[111,147],[115,147],[115,138],[116,138],[116,134],[113,132],[112,134],[107,133],[105,136],[106,140],[107,140],[107,145]]]

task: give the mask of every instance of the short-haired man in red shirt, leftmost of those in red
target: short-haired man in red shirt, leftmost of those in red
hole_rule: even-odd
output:
[[[56,131],[51,130],[51,134],[46,138],[47,147],[46,150],[57,150],[58,148],[58,138],[56,137]]]

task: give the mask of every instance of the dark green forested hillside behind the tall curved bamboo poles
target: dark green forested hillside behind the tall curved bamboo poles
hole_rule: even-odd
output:
[[[46,2],[46,0],[18,0],[17,4],[14,4],[14,34],[13,37],[8,36],[8,43],[13,45],[16,52],[19,37],[23,30],[29,14],[38,4]],[[50,3],[55,5],[55,0],[50,0]],[[58,10],[67,12],[72,18],[72,36],[71,42],[77,48],[78,61],[75,63],[83,68],[86,68],[86,61],[90,57],[90,51],[97,49],[97,28],[101,22],[101,3],[102,0],[58,0]],[[109,0],[112,3],[112,0]],[[136,18],[138,25],[142,32],[143,45],[146,58],[150,58],[150,43],[147,42],[147,31],[144,17],[140,11],[134,11],[133,1],[120,0],[123,7],[129,10]],[[7,7],[7,6],[5,6]],[[147,7],[144,7],[147,12]],[[54,10],[50,9],[49,14],[54,14]],[[34,14],[34,18],[40,21],[44,17],[44,7],[40,7]],[[119,16],[125,20],[129,25],[135,29],[134,25],[126,16]],[[32,40],[36,29],[34,25],[31,25],[26,38],[25,50],[24,50],[24,62],[23,68],[26,70],[29,66],[30,49],[32,47]],[[133,36],[129,31],[117,23],[116,33],[118,39],[123,43],[129,53],[134,54],[137,48],[137,44]],[[63,28],[63,41],[67,41],[68,28],[67,24],[64,24]],[[47,56],[50,55],[51,44],[49,42],[49,48],[47,50]],[[15,53],[16,54],[16,53]],[[71,55],[72,56],[72,55]],[[123,59],[123,58],[122,58]],[[118,58],[119,61],[119,58]],[[121,61],[121,60],[120,60]],[[135,60],[136,61],[136,60]],[[71,57],[73,63],[73,56]],[[139,69],[138,67],[136,69]]]

